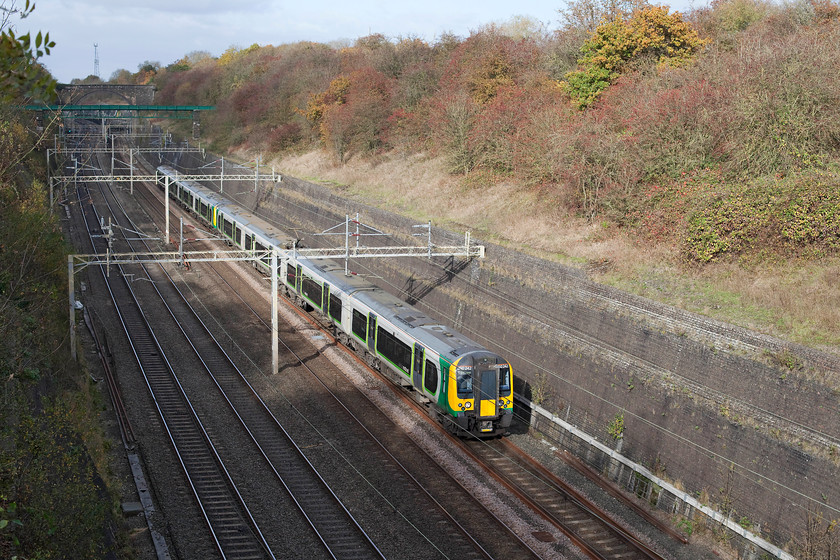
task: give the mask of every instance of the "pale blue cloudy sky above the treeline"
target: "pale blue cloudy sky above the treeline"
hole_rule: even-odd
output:
[[[665,2],[686,11],[695,0]],[[702,2],[702,0],[701,0]],[[18,7],[24,0],[0,0]],[[219,56],[231,46],[333,43],[372,33],[418,37],[433,43],[443,33],[468,37],[490,23],[528,16],[559,27],[565,0],[37,0],[18,33],[49,32],[56,45],[41,62],[60,83],[94,73],[108,80],[119,69],[136,72],[146,61],[166,66],[194,51]],[[94,48],[94,44],[98,45]]]

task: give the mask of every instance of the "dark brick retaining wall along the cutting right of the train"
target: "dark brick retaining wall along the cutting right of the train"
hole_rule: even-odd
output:
[[[289,177],[240,201],[301,232],[308,246],[324,245],[311,234],[356,212],[394,234],[364,243],[418,243],[411,220]],[[463,233],[433,228],[433,241],[459,244]],[[483,261],[360,260],[351,269],[506,356],[519,392],[602,443],[615,445],[607,426],[623,414],[622,453],[774,544],[803,531],[809,508],[840,518],[837,355],[493,245]]]

